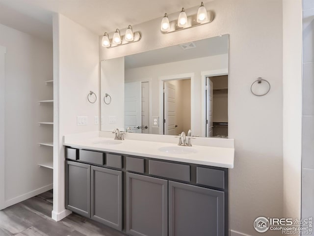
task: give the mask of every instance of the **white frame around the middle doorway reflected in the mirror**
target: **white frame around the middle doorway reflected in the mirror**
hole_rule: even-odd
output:
[[[183,79],[191,79],[191,130],[194,128],[195,121],[195,113],[194,111],[194,73],[183,73],[183,74],[175,74],[175,75],[166,75],[159,76],[159,134],[163,134],[163,83],[172,80],[183,80]]]

